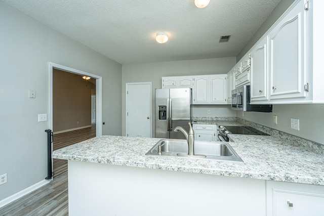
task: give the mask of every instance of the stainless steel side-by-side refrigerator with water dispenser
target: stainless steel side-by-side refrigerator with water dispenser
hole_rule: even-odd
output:
[[[176,126],[189,132],[191,122],[191,89],[155,90],[155,137],[185,139],[181,132],[174,132]]]

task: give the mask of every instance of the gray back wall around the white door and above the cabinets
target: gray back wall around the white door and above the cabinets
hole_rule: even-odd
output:
[[[152,137],[155,137],[155,89],[161,88],[161,76],[203,75],[227,73],[236,63],[235,57],[173,61],[160,63],[144,63],[123,65],[123,135],[126,134],[126,83],[127,82],[152,82]],[[235,112],[223,109],[224,106],[195,105],[193,114],[201,116],[211,110],[209,116],[235,116]]]

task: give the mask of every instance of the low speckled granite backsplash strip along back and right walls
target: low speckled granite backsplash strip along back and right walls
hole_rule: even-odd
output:
[[[306,140],[291,134],[287,134],[285,132],[278,131],[276,129],[254,123],[252,121],[248,121],[239,117],[203,117],[203,116],[192,116],[192,121],[197,120],[203,120],[203,121],[238,121],[242,124],[245,124],[247,126],[254,127],[258,129],[259,131],[262,131],[266,134],[269,134],[273,137],[277,137],[279,139],[285,140],[286,142],[289,142],[290,144],[294,146],[302,147],[303,149],[311,152],[315,152],[317,154],[324,155],[324,145],[320,143],[316,143],[310,140]]]

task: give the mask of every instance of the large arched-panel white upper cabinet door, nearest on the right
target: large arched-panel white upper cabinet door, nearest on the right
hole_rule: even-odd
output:
[[[305,97],[304,4],[292,8],[270,31],[270,99]]]

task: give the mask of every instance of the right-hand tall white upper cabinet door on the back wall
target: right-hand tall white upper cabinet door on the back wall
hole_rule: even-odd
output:
[[[226,76],[227,75],[218,75],[211,77],[211,100],[213,104],[226,104]]]

